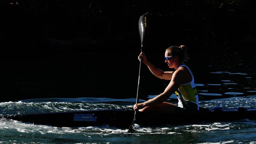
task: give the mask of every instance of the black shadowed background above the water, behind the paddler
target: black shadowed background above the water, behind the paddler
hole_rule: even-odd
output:
[[[255,59],[255,11],[254,0],[1,0],[0,101],[135,98],[147,12],[151,63],[168,70],[165,49],[184,44],[202,83],[209,63]],[[142,70],[142,97],[164,90]]]

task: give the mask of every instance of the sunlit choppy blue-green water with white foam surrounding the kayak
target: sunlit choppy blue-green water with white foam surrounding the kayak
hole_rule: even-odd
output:
[[[169,99],[169,101],[173,100]],[[126,109],[132,107],[134,102],[135,99],[111,98],[31,99],[2,102],[0,114]],[[256,108],[256,96],[200,101],[200,105],[209,109],[213,109],[216,105],[226,109],[236,109],[240,106]],[[0,144],[256,143],[256,120],[202,122],[197,125],[137,126],[134,133],[127,133],[127,131],[128,127],[126,129],[108,125],[75,128],[52,127],[24,124],[2,118],[0,119]]]

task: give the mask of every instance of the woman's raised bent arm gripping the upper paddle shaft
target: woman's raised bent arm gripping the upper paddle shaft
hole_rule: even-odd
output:
[[[139,54],[138,59],[143,59],[143,63],[145,63],[148,66],[148,69],[154,76],[160,78],[160,79],[166,79],[166,80],[171,80],[173,76],[173,72],[164,72],[163,70],[160,70],[159,68],[156,68],[154,65],[152,65],[148,60],[146,55],[142,52]]]

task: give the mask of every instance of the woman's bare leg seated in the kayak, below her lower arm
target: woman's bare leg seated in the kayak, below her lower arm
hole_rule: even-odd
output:
[[[175,113],[176,107],[177,106],[174,105],[173,103],[163,102],[158,105],[144,107],[143,109],[140,109],[139,111],[142,111],[142,112],[154,111],[154,112],[158,112],[158,113]]]

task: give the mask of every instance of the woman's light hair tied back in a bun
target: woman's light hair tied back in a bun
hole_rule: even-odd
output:
[[[189,60],[188,54],[187,54],[187,47],[184,45],[181,46],[171,46],[165,50],[169,51],[169,54],[175,56],[178,55],[179,60],[181,62],[187,62]]]

